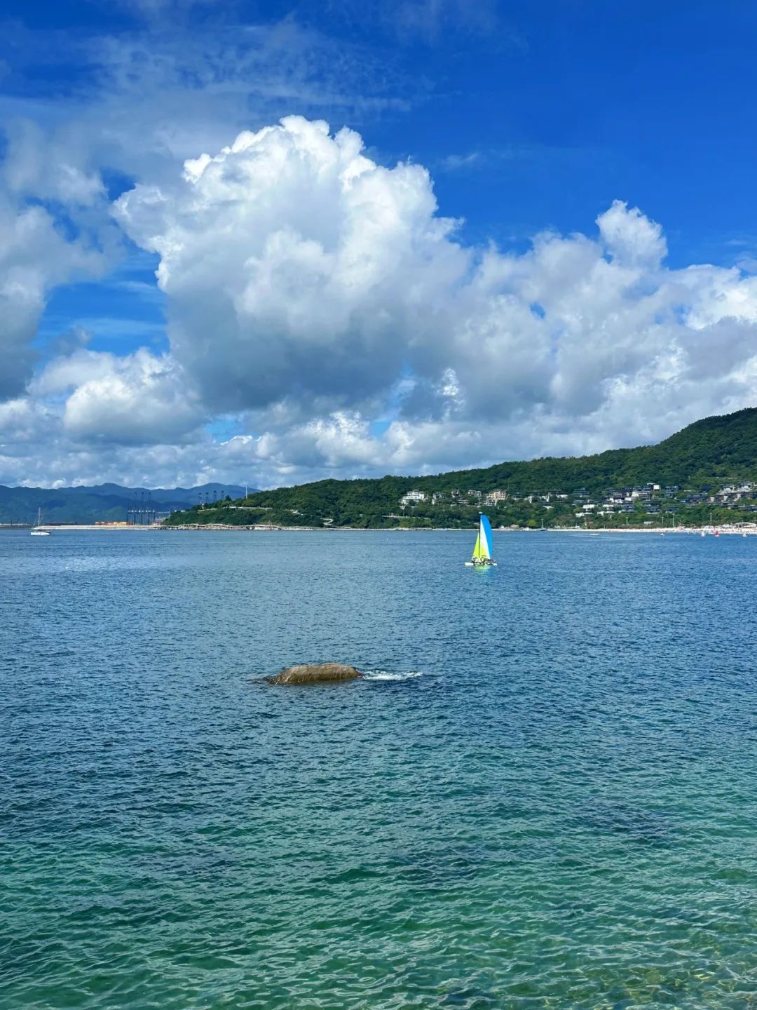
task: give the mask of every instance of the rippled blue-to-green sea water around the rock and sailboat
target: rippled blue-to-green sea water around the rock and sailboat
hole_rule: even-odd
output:
[[[757,1006],[757,537],[470,538],[0,533],[1,1010]]]

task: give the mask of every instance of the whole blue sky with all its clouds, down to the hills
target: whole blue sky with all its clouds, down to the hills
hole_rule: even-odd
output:
[[[437,473],[757,405],[757,6],[0,18],[0,483]]]

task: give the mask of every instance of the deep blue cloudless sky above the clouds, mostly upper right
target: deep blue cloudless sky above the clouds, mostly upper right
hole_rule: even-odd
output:
[[[517,241],[545,226],[581,229],[622,197],[664,218],[673,262],[705,252],[727,262],[733,243],[750,241],[755,138],[745,105],[757,86],[754,5],[395,6],[411,13],[393,16],[392,4],[370,3],[198,4],[178,25],[212,35],[290,18],[337,45],[364,48],[368,97],[397,107],[361,106],[355,95],[344,123],[332,125],[359,130],[382,161],[411,158],[432,169],[442,207],[464,216],[474,237]],[[172,30],[174,8],[152,18],[145,9],[10,0],[6,18],[28,31],[20,53],[12,41],[4,53],[8,90],[64,102],[86,86],[88,68],[65,52],[45,66],[53,34]],[[296,99],[281,103],[282,115],[301,111]]]

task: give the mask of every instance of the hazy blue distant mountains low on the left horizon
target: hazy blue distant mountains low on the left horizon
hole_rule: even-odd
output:
[[[249,494],[255,489],[249,488]],[[98,484],[75,488],[8,488],[0,485],[0,523],[32,522],[37,509],[45,522],[116,522],[134,508],[157,513],[186,509],[200,502],[212,503],[229,495],[244,497],[238,484],[202,484],[196,488],[125,488]]]

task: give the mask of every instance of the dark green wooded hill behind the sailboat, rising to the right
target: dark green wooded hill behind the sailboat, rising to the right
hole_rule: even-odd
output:
[[[452,491],[475,490],[485,494],[506,490],[509,499],[498,506],[498,516],[507,524],[510,521],[523,524],[534,519],[534,509],[539,507],[538,503],[524,502],[522,499],[527,495],[560,493],[571,497],[577,491],[585,491],[582,497],[590,499],[611,489],[643,487],[649,483],[661,486],[655,497],[664,499],[665,508],[673,507],[673,502],[680,513],[686,508],[687,495],[720,489],[734,480],[757,481],[757,408],[707,417],[657,445],[610,449],[597,456],[501,463],[485,469],[429,477],[317,481],[261,491],[236,502],[233,508],[190,509],[175,514],[171,521],[360,527],[469,525],[477,504],[460,501],[464,495],[452,500]],[[663,489],[670,486],[678,490],[665,496]],[[443,501],[435,504],[429,500],[408,506],[406,514],[400,516],[400,498],[411,489],[424,492],[429,498],[441,493]],[[574,521],[572,503],[557,501],[547,511],[553,513],[546,517],[548,524],[568,515]]]

